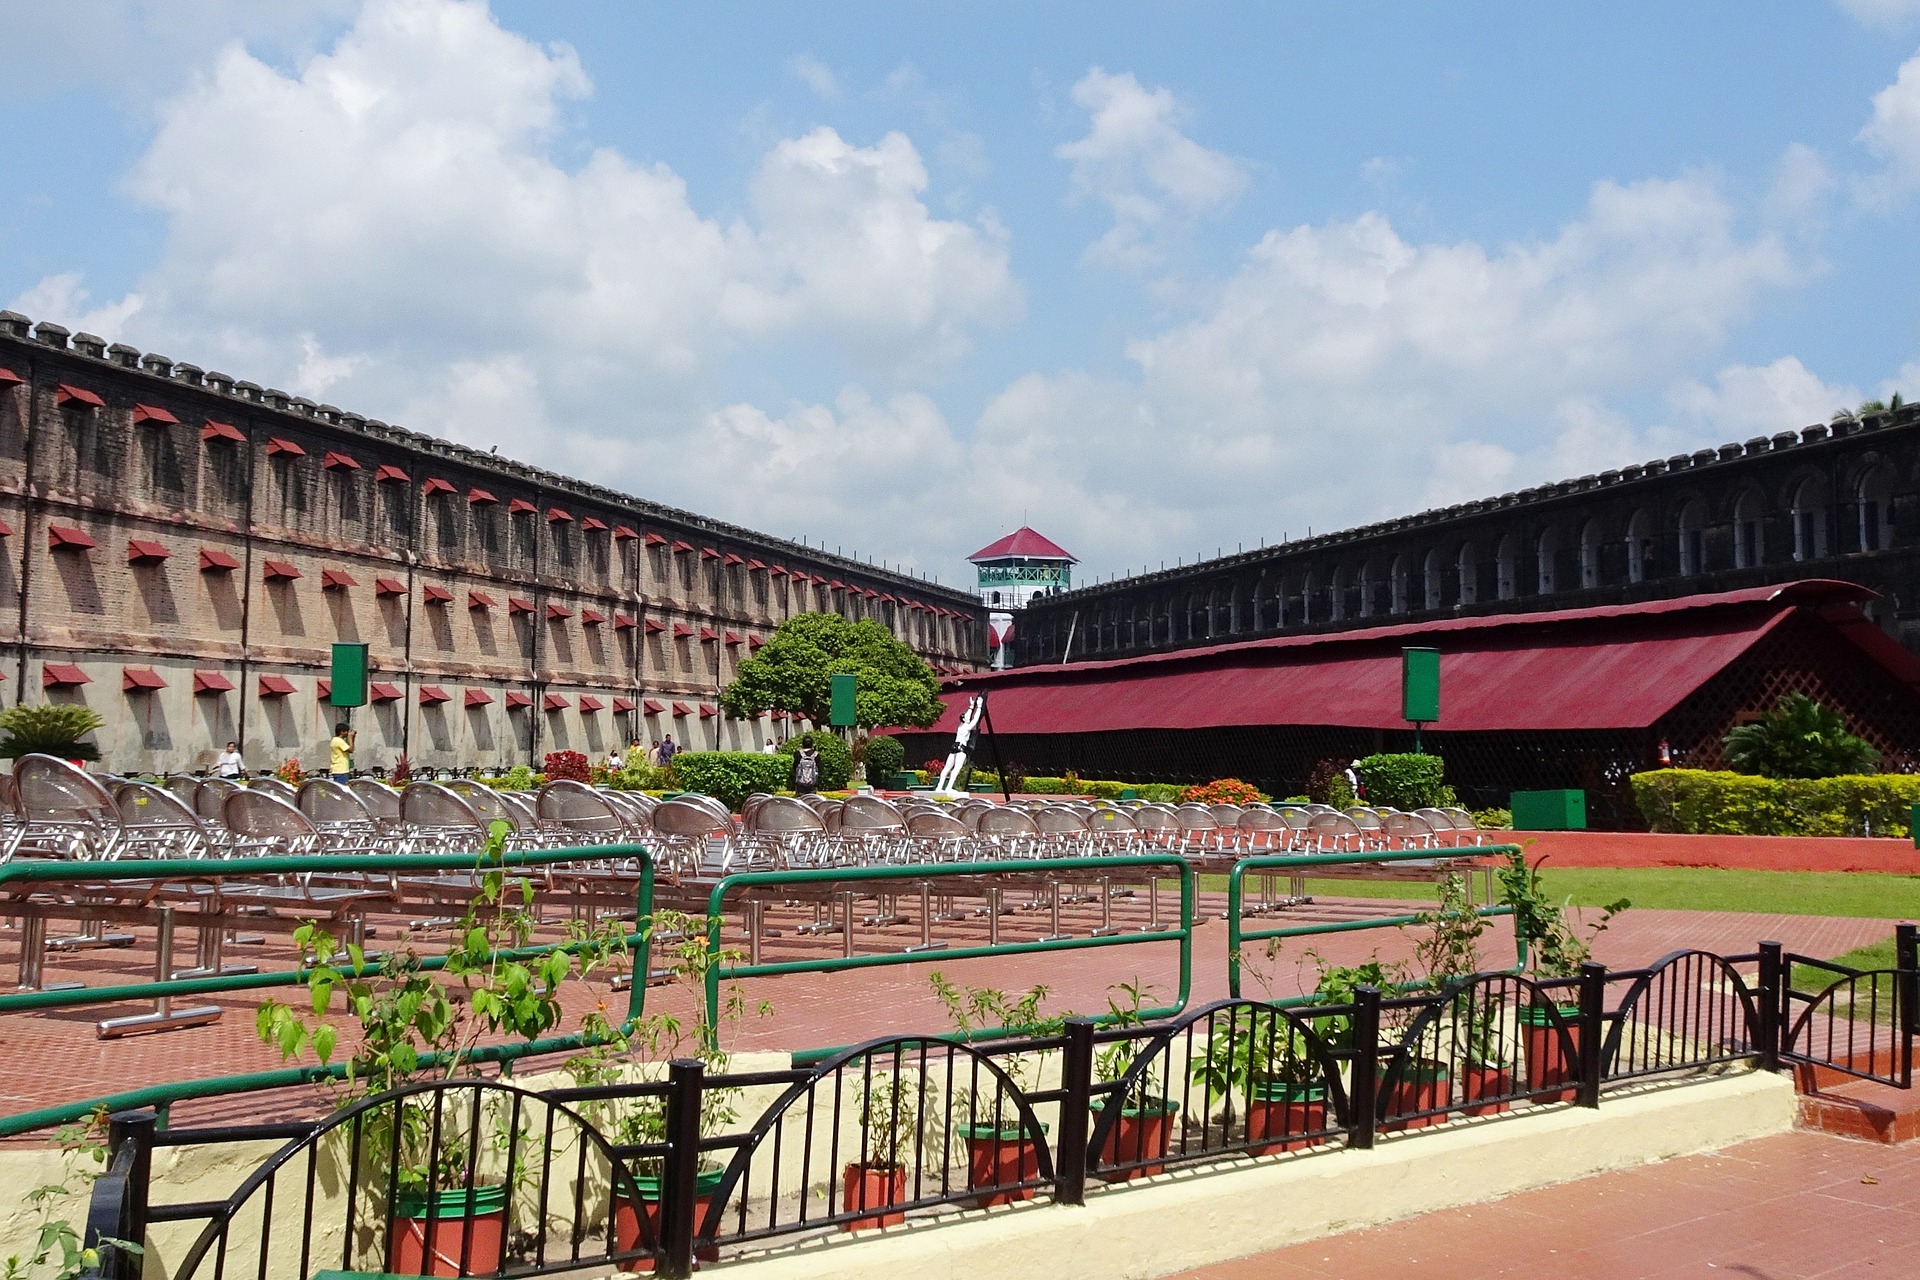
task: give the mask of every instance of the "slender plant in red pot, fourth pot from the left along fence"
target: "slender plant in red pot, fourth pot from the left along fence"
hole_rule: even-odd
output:
[[[1020,1036],[1052,1036],[1060,1032],[1068,1017],[1064,1013],[1041,1017],[1041,1002],[1048,994],[1046,986],[1033,986],[1020,998],[1010,998],[991,986],[956,986],[939,971],[929,973],[927,983],[962,1040],[972,1040],[987,1029]],[[1002,1069],[1014,1088],[1025,1094],[1044,1073],[1044,1054],[1035,1057],[1014,1054],[1002,1059]],[[993,1082],[991,1103],[981,1098],[981,1092],[968,1088],[960,1100],[964,1119],[958,1125],[958,1134],[968,1148],[968,1188],[1031,1182],[1041,1174],[1041,1153],[1020,1119],[1020,1107],[998,1080]],[[1041,1132],[1046,1132],[1046,1125],[1041,1125]],[[989,1192],[975,1196],[973,1203],[985,1209],[1016,1199],[1033,1199],[1033,1188]]]

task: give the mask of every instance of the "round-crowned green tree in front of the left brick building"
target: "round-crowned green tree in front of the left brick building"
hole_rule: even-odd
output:
[[[720,704],[741,720],[780,710],[824,725],[835,676],[858,679],[854,720],[866,729],[924,729],[941,714],[941,683],[920,654],[872,618],[847,622],[839,614],[781,622],[760,652],[739,664]]]

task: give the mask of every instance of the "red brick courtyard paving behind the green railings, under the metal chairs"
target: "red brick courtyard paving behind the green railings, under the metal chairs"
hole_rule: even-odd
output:
[[[1194,1004],[1217,1000],[1227,994],[1227,942],[1225,925],[1219,919],[1221,902],[1217,896],[1204,896],[1202,902],[1206,906],[1204,925],[1194,935]],[[914,904],[902,906],[912,908]],[[1311,908],[1302,908],[1298,917],[1350,919],[1404,910],[1407,910],[1405,904],[1323,898]],[[770,912],[770,923],[781,927],[781,936],[768,942],[764,958],[785,960],[803,954],[837,954],[841,948],[839,935],[797,935],[795,925],[806,919],[810,919],[810,910]],[[1144,921],[1144,900],[1117,904],[1116,919],[1139,925]],[[1079,936],[1085,936],[1096,923],[1096,906],[1069,908],[1064,915],[1064,927]],[[1048,919],[1044,912],[1010,915],[1002,923],[1002,938],[1039,936],[1046,927]],[[1811,956],[1837,956],[1864,942],[1884,938],[1887,933],[1891,933],[1891,921],[1644,910],[1619,917],[1599,936],[1597,958],[1611,965],[1642,965],[1682,946],[1722,954],[1751,952],[1761,938],[1778,938],[1789,950]],[[985,925],[977,919],[941,925],[935,936],[950,938],[954,944],[981,942],[985,940]],[[862,950],[897,952],[918,942],[918,923],[862,927],[858,938]],[[378,944],[378,940],[374,938],[372,944]],[[0,958],[12,961],[12,946],[6,946]],[[1405,958],[1411,954],[1411,940],[1400,931],[1342,933],[1288,940],[1275,963],[1261,961],[1258,965],[1269,971],[1269,990],[1273,996],[1290,996],[1311,988],[1313,967],[1308,960],[1309,950],[1336,963],[1352,963],[1375,952],[1384,958]],[[188,952],[190,944],[182,938],[182,963]],[[1503,925],[1490,935],[1484,954],[1490,965],[1511,963],[1511,933]],[[280,938],[273,938],[261,946],[230,946],[228,961],[242,960],[257,961],[261,967],[286,967],[292,963],[290,950]],[[48,979],[77,979],[94,984],[140,981],[140,977],[150,973],[150,965],[152,942],[148,936],[140,936],[131,950],[90,950],[54,956],[50,958]],[[1154,986],[1154,996],[1165,1002],[1171,1002],[1177,990],[1177,952],[1171,942],[996,956],[968,961],[943,960],[939,954],[929,954],[925,960],[885,969],[751,979],[745,983],[749,1004],[770,1002],[774,1013],[770,1017],[751,1017],[739,1031],[735,1048],[818,1048],[849,1044],[893,1031],[943,1029],[945,1017],[927,988],[927,975],[935,969],[948,973],[956,981],[1008,990],[1023,990],[1035,983],[1044,983],[1052,988],[1050,1011],[1102,1011],[1108,988],[1121,981],[1142,979]],[[1248,983],[1248,994],[1258,996],[1260,990],[1258,983]],[[298,992],[282,988],[278,994],[290,998]],[[626,1007],[624,994],[597,994],[612,1009]],[[144,1034],[117,1042],[98,1040],[94,1036],[94,1023],[115,1013],[138,1013],[142,1011],[138,1006],[90,1006],[0,1017],[0,1061],[8,1063],[6,1073],[0,1075],[0,1113],[27,1111],[152,1082],[278,1067],[282,1065],[278,1055],[259,1044],[253,1034],[253,1009],[261,998],[263,994],[250,992],[213,1000],[213,1004],[221,1004],[227,1009],[227,1015],[211,1027]],[[568,1017],[576,1019],[593,998],[595,992],[588,988],[570,990]],[[205,1002],[182,1000],[182,1004]],[[687,996],[678,990],[655,988],[649,992],[649,1007],[685,1011]],[[273,1098],[255,1096],[227,1103],[184,1103],[180,1119],[234,1113],[259,1117],[284,1113],[286,1109],[305,1109],[309,1105],[311,1094],[301,1088],[275,1094]]]

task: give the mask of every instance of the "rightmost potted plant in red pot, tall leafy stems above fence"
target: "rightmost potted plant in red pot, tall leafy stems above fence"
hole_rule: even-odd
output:
[[[1615,915],[1632,906],[1626,898],[1601,908],[1586,936],[1569,923],[1569,902],[1549,902],[1540,885],[1540,858],[1526,865],[1521,850],[1507,854],[1500,867],[1501,898],[1513,908],[1513,931],[1526,948],[1526,965],[1534,979],[1571,979],[1594,956],[1594,938],[1605,933]],[[1519,1009],[1521,1038],[1526,1054],[1526,1088],[1534,1102],[1567,1102],[1574,1096],[1569,1084],[1578,1077],[1580,1006],[1578,1002],[1530,1002]],[[1596,1046],[1597,1048],[1597,1046]]]

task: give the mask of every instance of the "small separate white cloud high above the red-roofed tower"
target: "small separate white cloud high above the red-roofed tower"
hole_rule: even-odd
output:
[[[1233,157],[1181,132],[1181,107],[1165,88],[1148,92],[1131,73],[1094,67],[1073,86],[1073,102],[1091,117],[1087,136],[1054,154],[1073,163],[1075,196],[1114,211],[1114,228],[1087,251],[1092,261],[1150,265],[1169,230],[1246,186]]]

